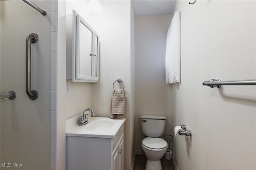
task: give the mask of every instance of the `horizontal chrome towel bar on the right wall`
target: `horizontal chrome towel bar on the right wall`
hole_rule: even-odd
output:
[[[220,79],[210,79],[209,81],[204,81],[203,85],[208,85],[211,88],[220,88],[221,85],[256,85],[256,79],[236,81],[220,81]]]

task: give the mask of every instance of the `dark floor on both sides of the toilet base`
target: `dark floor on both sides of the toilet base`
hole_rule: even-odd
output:
[[[136,154],[133,170],[145,170],[147,158],[144,154]],[[163,170],[175,170],[172,160],[161,159]]]

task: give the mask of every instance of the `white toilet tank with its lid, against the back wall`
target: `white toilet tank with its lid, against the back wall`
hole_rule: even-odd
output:
[[[166,117],[160,115],[142,115],[141,129],[145,136],[159,138],[164,134]]]

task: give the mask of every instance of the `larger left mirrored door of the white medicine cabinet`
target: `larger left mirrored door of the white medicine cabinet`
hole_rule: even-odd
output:
[[[76,19],[76,79],[93,80],[93,29],[81,16]]]

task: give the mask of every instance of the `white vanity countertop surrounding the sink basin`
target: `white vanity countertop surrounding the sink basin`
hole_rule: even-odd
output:
[[[80,136],[80,137],[95,137],[95,138],[114,138],[120,129],[120,127],[124,124],[125,118],[122,119],[110,119],[109,117],[88,117],[88,122],[84,126],[79,126],[79,117],[80,115],[76,115],[75,117],[69,118],[66,120],[66,136]],[[95,130],[89,130],[90,126],[93,125],[94,121],[101,121],[111,123],[111,127],[108,128],[100,128]],[[92,123],[94,122],[94,123]],[[91,124],[90,124],[91,123]]]

